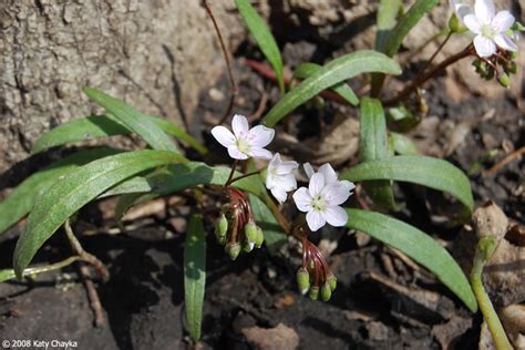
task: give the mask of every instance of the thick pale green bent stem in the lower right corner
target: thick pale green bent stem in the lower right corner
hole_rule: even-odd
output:
[[[505,333],[505,329],[497,317],[494,306],[488,298],[482,281],[482,272],[485,262],[491,258],[496,248],[497,241],[493,236],[485,236],[480,239],[474,256],[474,264],[471,271],[471,286],[476,296],[477,303],[483,317],[488,326],[492,338],[497,350],[512,350],[511,342]]]

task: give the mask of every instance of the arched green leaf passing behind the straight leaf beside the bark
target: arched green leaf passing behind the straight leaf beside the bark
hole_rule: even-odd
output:
[[[140,113],[140,112],[138,112]],[[141,113],[142,114],[142,113]],[[159,117],[142,114],[144,120],[148,120],[162,128],[166,134],[187,143],[200,154],[206,154],[208,150],[196,141],[192,135],[186,133],[182,127],[169,123]],[[61,146],[70,142],[82,142],[99,137],[110,137],[115,135],[126,135],[132,131],[124,124],[120,123],[114,116],[109,115],[91,115],[72,120],[61,124],[45,134],[43,134],[33,145],[32,153],[43,152],[51,147]]]

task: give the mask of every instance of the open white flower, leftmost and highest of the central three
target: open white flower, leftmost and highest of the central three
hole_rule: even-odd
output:
[[[275,131],[272,128],[264,125],[249,128],[248,120],[240,114],[234,115],[231,128],[234,133],[220,125],[212,128],[212,135],[228,148],[230,157],[234,159],[271,158],[271,152],[264,147],[274,140]]]

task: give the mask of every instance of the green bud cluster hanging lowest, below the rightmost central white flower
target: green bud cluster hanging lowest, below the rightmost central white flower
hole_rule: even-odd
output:
[[[319,249],[305,239],[302,241],[302,266],[297,270],[297,286],[310,299],[328,301],[337,286],[337,278],[328,267]]]

